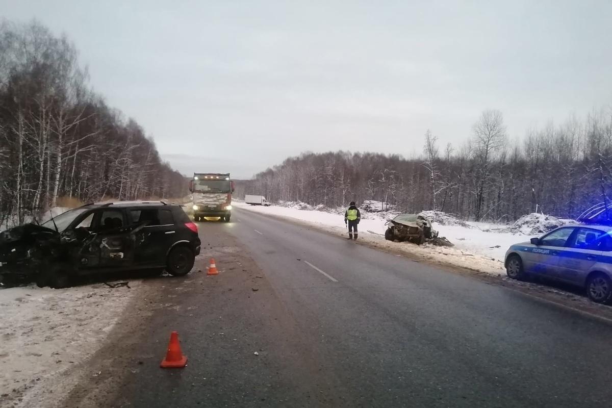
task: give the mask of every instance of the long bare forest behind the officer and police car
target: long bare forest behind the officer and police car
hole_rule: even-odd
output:
[[[419,158],[304,153],[257,174],[245,190],[270,201],[335,207],[378,200],[406,212],[436,209],[500,222],[531,212],[577,217],[609,201],[612,111],[530,130],[520,141],[510,140],[500,111],[474,120],[461,146],[439,146],[427,130]]]

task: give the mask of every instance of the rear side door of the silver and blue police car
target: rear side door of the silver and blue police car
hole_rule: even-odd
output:
[[[584,282],[585,276],[602,254],[600,249],[605,232],[591,228],[577,228],[567,248],[557,259],[554,277],[572,283]]]

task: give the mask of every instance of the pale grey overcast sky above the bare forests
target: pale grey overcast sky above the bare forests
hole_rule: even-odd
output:
[[[460,146],[612,102],[612,1],[26,1],[174,168],[250,177],[307,150]]]

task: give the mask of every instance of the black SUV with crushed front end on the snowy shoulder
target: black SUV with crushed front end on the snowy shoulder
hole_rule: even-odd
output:
[[[123,270],[182,276],[198,254],[198,227],[177,204],[86,204],[40,225],[1,232],[0,283],[57,288],[74,276]]]

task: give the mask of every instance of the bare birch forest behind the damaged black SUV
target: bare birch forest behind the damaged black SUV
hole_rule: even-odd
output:
[[[62,197],[180,197],[185,183],[140,125],[90,89],[65,35],[0,22],[0,224]]]

